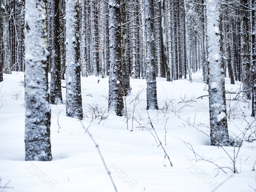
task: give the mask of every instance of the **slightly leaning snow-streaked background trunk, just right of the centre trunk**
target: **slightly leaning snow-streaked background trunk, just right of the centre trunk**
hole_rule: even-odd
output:
[[[161,22],[161,27],[162,27],[162,38],[163,38],[163,52],[164,52],[164,64],[165,64],[165,70],[166,70],[166,81],[170,81],[170,68],[169,68],[169,60],[167,57],[167,39],[165,35],[165,15],[164,14],[164,9],[165,9],[165,0],[162,0],[161,2],[161,14],[162,14],[162,22]],[[164,71],[163,71],[164,73]]]

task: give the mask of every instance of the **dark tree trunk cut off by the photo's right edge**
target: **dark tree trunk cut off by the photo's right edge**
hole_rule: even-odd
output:
[[[256,115],[256,1],[252,0],[252,15],[253,15],[253,35],[252,35],[252,43],[253,43],[253,62],[252,62],[252,117]]]

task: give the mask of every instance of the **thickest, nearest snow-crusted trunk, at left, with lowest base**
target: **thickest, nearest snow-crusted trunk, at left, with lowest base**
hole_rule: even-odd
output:
[[[25,160],[52,160],[48,94],[46,0],[26,0]]]

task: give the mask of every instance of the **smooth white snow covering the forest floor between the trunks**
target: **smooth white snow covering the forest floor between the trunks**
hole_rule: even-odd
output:
[[[4,191],[113,192],[94,143],[80,121],[65,116],[64,104],[51,105],[53,160],[24,160],[24,74],[13,72],[3,77],[4,81],[0,82],[0,185],[3,187],[11,180],[8,187],[13,187]],[[157,78],[160,110],[148,111],[173,166],[149,123],[146,80],[131,79],[132,94],[126,97],[127,130],[125,116],[107,114],[108,79],[100,79],[98,83],[98,77],[82,77],[82,123],[99,144],[119,192],[253,192],[256,189],[255,171],[252,171],[256,160],[255,118],[250,117],[250,103],[227,100],[229,137],[239,146],[237,136],[243,138],[245,135],[243,140],[246,141],[242,142],[238,155],[239,147],[210,146],[207,136],[210,135],[207,128],[210,124],[209,98],[197,99],[208,95],[208,86],[202,83],[201,71],[192,77],[193,83],[185,79],[166,82],[164,78]],[[230,85],[226,78],[226,90],[241,89],[240,82],[235,83]],[[64,99],[65,93],[62,88]],[[235,96],[226,94],[226,99]],[[230,170],[236,155],[238,174]],[[226,173],[209,161],[214,161]],[[57,183],[49,186],[51,180]]]

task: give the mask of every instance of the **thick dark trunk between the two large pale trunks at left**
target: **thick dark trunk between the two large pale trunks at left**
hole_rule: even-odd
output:
[[[60,25],[59,25],[59,0],[51,0],[51,36],[52,36],[52,65],[50,103],[62,104],[60,81]]]

